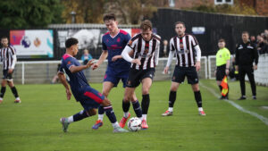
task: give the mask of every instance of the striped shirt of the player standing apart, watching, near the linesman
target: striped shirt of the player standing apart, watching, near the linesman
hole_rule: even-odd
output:
[[[183,37],[173,37],[170,41],[170,50],[172,53],[176,52],[177,63],[180,67],[191,67],[196,64],[196,53],[197,61],[200,61],[201,51],[200,51],[197,39],[189,34],[185,34]]]

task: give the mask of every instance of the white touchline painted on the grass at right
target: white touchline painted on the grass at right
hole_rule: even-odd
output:
[[[214,96],[220,97],[220,95],[218,95],[214,91],[214,89],[206,87],[205,85],[201,84],[201,82],[199,84],[200,84],[201,87],[206,88],[207,90],[209,90]],[[258,118],[259,120],[261,120],[262,122],[264,122],[266,125],[268,125],[268,118],[264,117],[263,115],[260,115],[260,114],[255,113],[255,112],[248,111],[248,110],[244,109],[242,106],[234,103],[231,100],[224,100],[224,101],[227,102],[227,103],[229,103],[230,105],[233,105],[234,107],[236,107],[237,109],[239,109],[239,111],[241,111],[243,113],[248,113],[248,114],[250,114],[252,116],[255,116],[256,118]]]

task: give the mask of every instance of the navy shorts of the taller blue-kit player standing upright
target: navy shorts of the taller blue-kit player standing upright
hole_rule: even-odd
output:
[[[117,87],[119,81],[121,80],[123,83],[123,88],[125,88],[127,85],[128,78],[129,78],[129,72],[130,71],[118,72],[118,71],[114,71],[111,68],[107,68],[107,71],[105,72],[104,82],[110,81],[113,83],[114,85],[113,87]]]

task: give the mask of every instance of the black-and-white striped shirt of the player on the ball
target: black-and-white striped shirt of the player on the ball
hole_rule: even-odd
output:
[[[146,41],[138,34],[130,39],[128,46],[134,50],[134,59],[140,60],[140,65],[132,63],[130,68],[137,70],[147,70],[155,68],[158,64],[159,49],[161,38],[152,34],[152,38]]]

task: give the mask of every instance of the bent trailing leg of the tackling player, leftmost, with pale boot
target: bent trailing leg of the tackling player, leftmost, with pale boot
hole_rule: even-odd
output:
[[[84,105],[84,103],[81,103],[81,105],[86,106],[86,104]],[[82,111],[80,111],[80,113],[76,113],[73,114],[71,116],[69,116],[68,118],[61,118],[61,122],[63,124],[63,131],[67,132],[68,130],[68,126],[71,122],[79,122],[80,120],[83,120],[89,116],[93,116],[96,114],[96,109],[95,108],[91,108],[91,109],[84,109]]]

